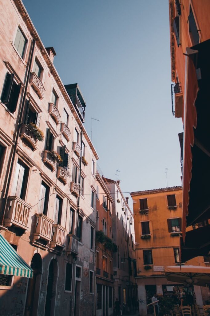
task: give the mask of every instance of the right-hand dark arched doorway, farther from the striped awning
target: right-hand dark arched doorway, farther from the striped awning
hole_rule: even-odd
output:
[[[56,288],[58,278],[58,265],[55,259],[51,260],[48,273],[48,286],[45,302],[44,316],[53,316],[56,300]]]

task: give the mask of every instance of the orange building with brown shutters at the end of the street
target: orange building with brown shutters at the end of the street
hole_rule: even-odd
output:
[[[165,266],[179,265],[179,236],[182,229],[182,187],[131,192],[137,260],[139,313],[147,315],[154,293],[180,297],[186,288],[167,281]],[[187,264],[206,265],[203,257]],[[194,286],[197,304],[202,305],[201,287]],[[207,289],[208,291],[208,289]],[[181,294],[182,293],[182,294]],[[207,293],[206,293],[207,295]]]

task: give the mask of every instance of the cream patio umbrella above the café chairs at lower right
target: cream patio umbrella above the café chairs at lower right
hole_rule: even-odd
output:
[[[168,281],[206,286],[210,283],[210,268],[196,265],[179,265],[164,267]]]

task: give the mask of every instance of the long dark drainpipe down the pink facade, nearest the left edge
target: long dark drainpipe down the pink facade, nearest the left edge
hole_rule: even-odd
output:
[[[30,57],[29,57],[30,58],[29,59],[29,65],[28,65],[28,68],[27,68],[27,77],[26,77],[25,90],[24,90],[24,94],[23,94],[22,104],[21,104],[21,107],[20,107],[20,115],[19,115],[19,120],[18,120],[18,127],[17,127],[17,131],[16,131],[16,135],[14,137],[15,141],[14,141],[14,145],[13,145],[14,147],[13,147],[13,153],[12,153],[10,168],[9,168],[8,173],[5,176],[5,179],[8,179],[8,182],[7,182],[6,190],[4,192],[5,193],[5,197],[3,198],[3,205],[2,205],[3,215],[1,216],[1,222],[0,222],[0,225],[2,225],[2,226],[3,226],[4,216],[5,216],[6,202],[7,202],[9,186],[10,186],[10,182],[11,182],[11,175],[12,175],[13,167],[14,167],[14,158],[15,158],[15,154],[17,152],[18,137],[19,137],[20,128],[21,128],[21,122],[22,122],[22,117],[23,117],[23,110],[24,110],[24,104],[25,104],[25,100],[26,100],[26,92],[27,92],[28,83],[29,83],[31,63],[32,63],[32,59],[33,59],[35,43],[36,43],[35,40],[33,40],[32,41],[31,52],[30,52]],[[4,193],[3,193],[3,195],[4,195]]]

